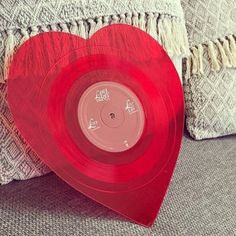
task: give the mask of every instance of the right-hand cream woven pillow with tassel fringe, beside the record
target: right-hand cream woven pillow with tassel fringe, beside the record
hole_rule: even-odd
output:
[[[191,55],[186,126],[194,139],[236,133],[236,1],[182,0]]]

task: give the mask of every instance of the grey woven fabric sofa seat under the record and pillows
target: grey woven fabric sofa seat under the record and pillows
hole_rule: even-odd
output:
[[[54,174],[0,187],[0,235],[236,235],[236,136],[185,137],[152,228],[130,223]]]

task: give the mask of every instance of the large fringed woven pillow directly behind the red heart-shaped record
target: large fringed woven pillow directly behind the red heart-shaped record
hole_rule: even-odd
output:
[[[163,45],[180,74],[181,58],[189,50],[180,0],[3,0],[0,16],[0,81],[5,83],[0,86],[0,184],[49,171],[17,131],[6,100],[12,54],[28,38],[51,30],[88,38],[108,24],[131,24]]]

